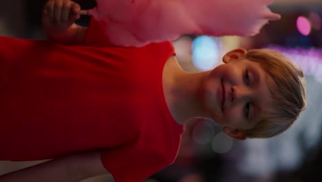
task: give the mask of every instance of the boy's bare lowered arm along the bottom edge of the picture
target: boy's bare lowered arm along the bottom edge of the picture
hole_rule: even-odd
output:
[[[54,159],[30,168],[0,176],[6,182],[73,182],[108,174],[100,160],[100,152],[77,154]]]

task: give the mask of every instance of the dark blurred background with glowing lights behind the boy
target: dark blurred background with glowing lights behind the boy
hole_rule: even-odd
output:
[[[107,0],[108,1],[108,0]],[[84,9],[95,1],[78,0]],[[0,2],[0,35],[46,39],[41,28],[45,0]],[[174,41],[180,65],[188,72],[210,70],[233,48],[272,48],[303,68],[308,107],[287,132],[272,139],[235,141],[212,121],[189,123],[175,163],[154,174],[150,182],[279,182],[322,179],[322,0],[275,0],[281,14],[255,37],[185,35]],[[89,17],[78,22],[87,25]],[[3,149],[0,149],[3,150]],[[42,161],[0,161],[0,174]],[[125,174],[126,175],[126,174]],[[112,181],[101,176],[86,181]]]

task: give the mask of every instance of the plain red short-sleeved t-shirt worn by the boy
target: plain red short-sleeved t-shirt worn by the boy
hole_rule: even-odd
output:
[[[0,37],[0,160],[103,150],[116,182],[142,181],[173,163],[183,126],[171,117],[162,69],[170,42],[143,48]]]

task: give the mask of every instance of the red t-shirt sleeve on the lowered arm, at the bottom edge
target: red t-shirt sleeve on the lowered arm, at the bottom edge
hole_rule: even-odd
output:
[[[143,181],[175,160],[160,151],[143,149],[136,144],[107,150],[101,154],[101,159],[116,182]]]

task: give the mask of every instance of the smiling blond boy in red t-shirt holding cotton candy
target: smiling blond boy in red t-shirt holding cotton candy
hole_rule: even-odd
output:
[[[213,119],[234,139],[265,138],[305,107],[303,73],[278,52],[236,49],[226,64],[189,74],[171,43],[109,45],[95,21],[88,30],[74,24],[79,10],[47,2],[51,41],[0,37],[0,159],[53,159],[0,181],[109,172],[116,182],[142,181],[173,163],[190,119]]]

